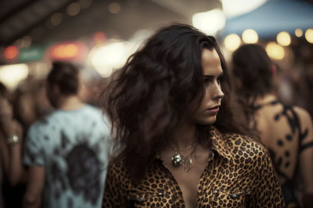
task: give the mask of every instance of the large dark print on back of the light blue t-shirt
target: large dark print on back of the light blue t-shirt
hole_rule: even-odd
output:
[[[76,141],[72,144],[64,131],[61,131],[61,146],[54,148],[55,159],[52,163],[53,184],[59,184],[54,193],[55,198],[71,189],[75,195],[82,195],[86,202],[92,205],[97,203],[101,194],[101,167],[104,164],[97,157],[100,144],[96,143],[91,147],[88,138],[77,134]],[[69,207],[72,204],[72,199],[69,198]]]

